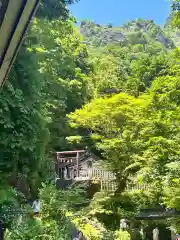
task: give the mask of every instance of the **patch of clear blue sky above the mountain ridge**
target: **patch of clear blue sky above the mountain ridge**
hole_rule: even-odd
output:
[[[69,7],[77,20],[90,19],[99,24],[119,26],[144,18],[162,25],[169,12],[169,0],[80,0]]]

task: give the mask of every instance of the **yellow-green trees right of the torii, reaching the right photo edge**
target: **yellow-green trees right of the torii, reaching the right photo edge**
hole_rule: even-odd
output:
[[[91,145],[116,174],[119,192],[132,174],[162,189],[166,165],[178,161],[178,58],[177,50],[167,74],[138,98],[125,93],[98,98],[69,115],[72,127],[90,132]]]

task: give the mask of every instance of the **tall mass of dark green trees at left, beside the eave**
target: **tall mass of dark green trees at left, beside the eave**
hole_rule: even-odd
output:
[[[65,3],[58,6],[65,8]],[[39,10],[45,15],[52,3],[46,4]],[[56,13],[51,13],[53,19],[39,14],[0,97],[0,184],[18,188],[27,198],[36,197],[50,175],[50,151],[68,149],[66,113],[89,94],[87,51],[73,19],[63,13],[67,20],[56,19]]]

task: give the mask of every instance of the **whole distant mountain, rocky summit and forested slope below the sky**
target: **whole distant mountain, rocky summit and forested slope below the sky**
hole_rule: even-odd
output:
[[[152,20],[137,19],[119,27],[86,20],[80,33],[96,72],[93,86],[100,95],[138,96],[157,76],[166,74],[171,52],[180,46],[180,31]]]

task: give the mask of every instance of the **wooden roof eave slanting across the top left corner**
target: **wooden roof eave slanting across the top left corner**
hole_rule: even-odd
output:
[[[17,56],[40,0],[0,0],[0,87]]]

